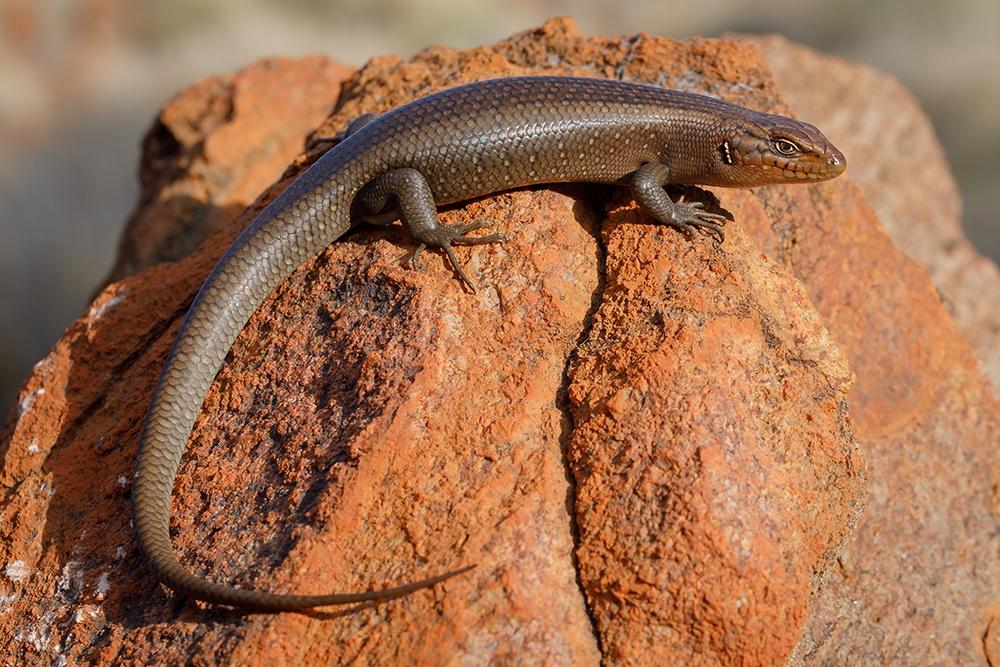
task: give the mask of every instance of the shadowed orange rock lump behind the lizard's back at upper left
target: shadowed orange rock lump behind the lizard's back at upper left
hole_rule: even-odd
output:
[[[333,110],[351,70],[328,58],[262,60],[170,100],[142,146],[142,192],[107,282],[185,257],[277,180]]]

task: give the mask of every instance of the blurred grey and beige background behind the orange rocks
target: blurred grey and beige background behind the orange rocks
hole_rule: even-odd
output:
[[[0,411],[110,268],[140,140],[179,89],[267,55],[360,65],[562,14],[587,34],[778,32],[894,74],[937,127],[971,240],[1000,257],[997,0],[0,0]]]

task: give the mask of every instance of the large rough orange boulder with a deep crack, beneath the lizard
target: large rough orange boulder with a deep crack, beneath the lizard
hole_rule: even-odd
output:
[[[553,21],[375,60],[320,132],[521,73],[787,110],[752,45]],[[186,118],[230,99],[190,94]],[[996,399],[847,178],[716,191],[736,220],[722,247],[605,188],[452,207],[447,222],[511,235],[461,250],[476,295],[440,258],[407,269],[398,227],[334,244],[269,297],[206,399],[174,495],[181,558],[304,592],[479,567],[347,613],[175,599],[129,526],[143,411],[212,263],[288,182],[231,221],[208,198],[197,219],[175,209],[221,231],[109,285],[25,384],[0,434],[4,662],[995,664]],[[183,247],[158,245],[175,233],[150,234],[149,256]]]

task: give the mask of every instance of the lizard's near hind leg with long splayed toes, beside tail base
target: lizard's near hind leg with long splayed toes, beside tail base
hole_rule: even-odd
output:
[[[392,203],[395,203],[394,207],[390,207]],[[362,219],[368,221],[388,221],[385,218],[390,214],[401,218],[417,241],[410,258],[411,265],[418,268],[418,259],[424,248],[441,248],[448,256],[452,269],[473,292],[476,286],[462,270],[452,246],[501,243],[507,239],[503,234],[469,236],[470,232],[490,226],[483,220],[469,224],[442,224],[438,220],[427,179],[416,169],[393,169],[373,179],[358,193],[355,206]]]

